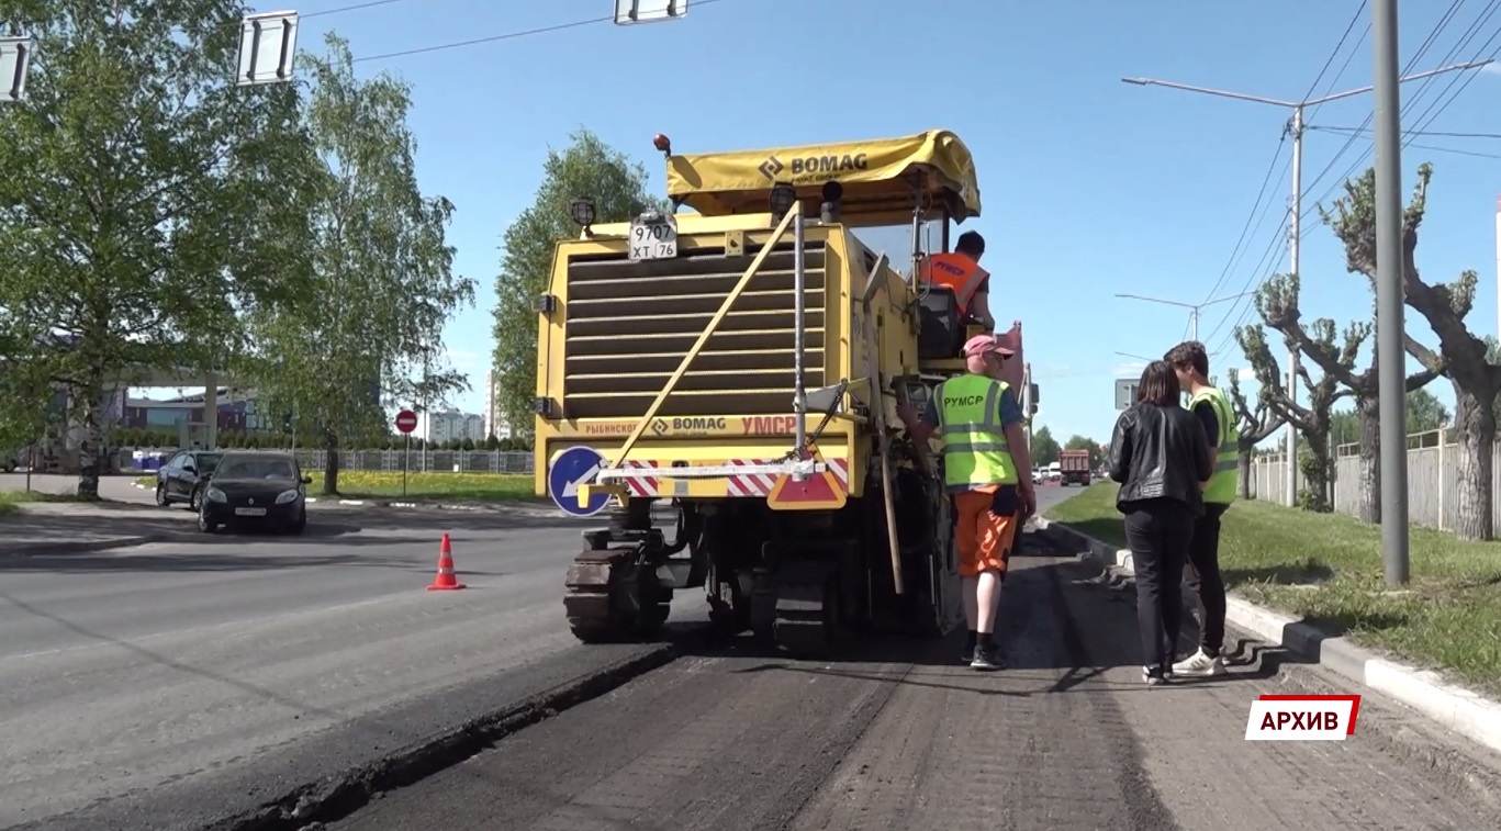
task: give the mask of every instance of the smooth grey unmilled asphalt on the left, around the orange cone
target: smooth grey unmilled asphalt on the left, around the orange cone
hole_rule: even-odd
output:
[[[0,828],[200,828],[648,651],[569,634],[579,528],[318,512],[305,538],[0,558]],[[425,591],[441,531],[462,591]]]

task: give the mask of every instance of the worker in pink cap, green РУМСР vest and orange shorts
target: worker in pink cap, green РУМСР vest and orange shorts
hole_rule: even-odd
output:
[[[994,334],[976,334],[964,345],[967,372],[934,387],[923,418],[908,404],[896,408],[913,441],[938,434],[944,442],[968,622],[962,660],[979,670],[1006,666],[995,644],[1001,584],[1019,525],[1037,507],[1022,408],[1001,381],[1003,362],[1013,354]]]

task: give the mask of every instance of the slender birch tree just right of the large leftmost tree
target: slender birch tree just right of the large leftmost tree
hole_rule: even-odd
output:
[[[411,87],[386,74],[357,80],[348,42],[324,42],[326,57],[300,56],[315,80],[305,123],[320,171],[308,180],[311,242],[296,274],[323,302],[255,315],[242,372],[290,405],[299,438],[317,436],[323,492],[338,494],[341,447],[384,441],[387,410],[402,402],[468,387],[441,364],[435,333],[473,303],[474,280],[453,274],[453,204],[417,186]]]

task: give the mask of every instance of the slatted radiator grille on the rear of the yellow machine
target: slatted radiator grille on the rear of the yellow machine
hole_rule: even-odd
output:
[[[666,386],[760,249],[674,260],[624,255],[569,264],[564,418],[639,418]],[[803,250],[805,381],[824,386],[827,282],[823,243]],[[794,387],[794,250],[779,244],[689,364],[660,416],[785,414]]]

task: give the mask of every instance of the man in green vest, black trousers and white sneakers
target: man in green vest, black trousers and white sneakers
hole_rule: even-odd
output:
[[[1225,580],[1219,568],[1220,519],[1235,501],[1240,476],[1240,430],[1225,393],[1210,386],[1210,357],[1204,344],[1187,340],[1168,350],[1163,360],[1189,393],[1189,410],[1204,424],[1214,448],[1214,474],[1204,484],[1204,514],[1193,526],[1189,546],[1189,588],[1198,597],[1199,650],[1172,664],[1174,675],[1211,676],[1225,674]]]

